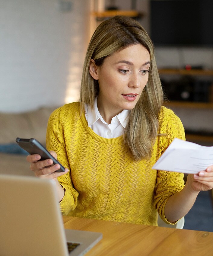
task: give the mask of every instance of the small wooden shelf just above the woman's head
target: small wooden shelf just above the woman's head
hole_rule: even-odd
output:
[[[130,11],[119,11],[119,10],[112,10],[112,11],[94,11],[92,15],[96,18],[110,18],[116,15],[123,15],[128,17],[138,17],[141,14],[138,11],[130,10]]]

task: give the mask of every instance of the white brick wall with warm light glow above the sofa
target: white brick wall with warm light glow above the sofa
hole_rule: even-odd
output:
[[[87,3],[1,0],[0,111],[19,112],[78,100]],[[71,10],[62,11],[66,5]]]

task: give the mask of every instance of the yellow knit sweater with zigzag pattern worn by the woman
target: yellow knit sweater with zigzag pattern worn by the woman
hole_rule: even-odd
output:
[[[183,125],[172,110],[161,108],[159,133],[151,158],[135,161],[126,152],[123,136],[105,139],[88,127],[79,102],[56,109],[49,118],[46,144],[69,173],[59,177],[65,189],[62,214],[157,225],[164,221],[167,199],[182,190],[183,174],[151,167],[174,138],[185,139]]]

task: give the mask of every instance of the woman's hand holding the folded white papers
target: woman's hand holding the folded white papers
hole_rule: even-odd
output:
[[[213,188],[213,165],[200,171],[197,174],[189,174],[187,183],[191,185],[193,191],[207,191]]]

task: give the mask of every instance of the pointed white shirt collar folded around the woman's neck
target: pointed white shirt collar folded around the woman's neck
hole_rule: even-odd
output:
[[[97,122],[98,119],[100,119],[103,123],[107,124],[104,120],[101,114],[98,111],[97,107],[97,97],[94,100],[94,107],[93,110],[91,109],[90,106],[85,104],[85,115],[87,119],[88,126],[91,127],[95,122]],[[119,121],[123,128],[126,128],[127,122],[128,122],[128,115],[129,115],[129,110],[124,109],[121,113],[116,115],[116,117],[113,117],[113,119],[117,122]],[[112,119],[112,121],[113,121]]]

